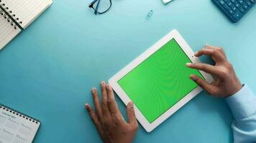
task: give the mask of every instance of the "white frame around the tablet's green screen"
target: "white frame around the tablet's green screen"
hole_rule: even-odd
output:
[[[132,61],[130,64],[128,64],[127,66],[124,67],[124,69],[122,69],[121,71],[119,71],[116,75],[114,75],[114,77],[111,77],[111,79],[109,79],[109,84],[111,85],[111,87],[114,89],[114,92],[116,92],[116,94],[122,99],[122,101],[124,102],[124,104],[128,104],[129,101],[132,101],[129,96],[124,92],[124,90],[122,89],[122,87],[119,86],[119,84],[117,83],[120,79],[122,79],[122,77],[124,77],[126,74],[129,73],[129,71],[132,71],[132,69],[134,69],[136,66],[138,66],[140,63],[142,63],[142,61],[145,61],[145,59],[147,59],[149,56],[151,56],[152,54],[155,53],[155,51],[157,51],[158,49],[160,49],[162,46],[164,46],[168,41],[170,41],[171,39],[175,39],[175,41],[178,42],[178,44],[180,45],[180,47],[183,49],[183,51],[186,53],[186,55],[189,57],[189,59],[191,59],[191,61],[193,63],[199,63],[201,62],[196,56],[194,55],[193,50],[191,49],[190,46],[188,46],[188,44],[186,43],[186,41],[183,39],[183,37],[178,33],[177,30],[173,30],[170,31],[169,34],[167,34],[166,36],[164,36],[162,39],[160,39],[159,41],[157,41],[154,45],[152,45],[149,49],[147,49],[145,52],[143,52],[140,56],[138,56],[136,59],[134,59],[134,61]],[[200,71],[201,74],[204,76],[204,78],[206,79],[206,82],[213,82],[213,77],[211,77],[210,74],[206,74],[204,71]],[[170,117],[172,114],[174,114],[178,109],[180,109],[181,107],[183,107],[187,102],[189,102],[191,99],[193,99],[193,97],[196,97],[196,95],[201,92],[202,89],[201,87],[196,87],[196,89],[193,89],[192,92],[188,93],[185,97],[183,97],[183,99],[180,99],[180,101],[178,103],[176,103],[173,107],[170,107],[170,109],[168,109],[165,113],[163,113],[160,117],[158,117],[157,119],[155,119],[154,122],[150,123],[147,121],[147,119],[144,117],[144,115],[142,114],[142,112],[140,112],[140,110],[136,107],[136,105],[134,104],[134,111],[135,111],[135,115],[138,119],[138,121],[140,122],[140,124],[142,124],[142,127],[145,128],[145,130],[147,132],[151,132],[153,129],[155,129],[155,127],[157,127],[158,125],[160,125],[162,122],[165,121],[165,119],[168,119],[168,117]]]

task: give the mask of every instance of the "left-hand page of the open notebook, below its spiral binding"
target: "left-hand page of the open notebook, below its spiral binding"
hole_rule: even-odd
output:
[[[4,12],[3,12],[4,13]],[[6,44],[14,39],[21,30],[19,28],[14,29],[14,26],[0,14],[0,50],[3,49]]]

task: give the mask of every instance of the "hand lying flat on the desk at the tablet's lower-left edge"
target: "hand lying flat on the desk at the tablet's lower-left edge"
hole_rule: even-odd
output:
[[[101,102],[95,88],[92,89],[92,94],[95,111],[89,104],[85,106],[102,141],[105,143],[132,142],[138,129],[133,103],[129,102],[127,105],[129,122],[126,122],[119,111],[109,84],[101,82]]]

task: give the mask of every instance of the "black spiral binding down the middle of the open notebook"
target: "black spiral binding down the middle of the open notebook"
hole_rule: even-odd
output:
[[[0,14],[4,16],[4,19],[6,19],[12,26],[14,26],[14,29],[17,29],[17,27],[22,29],[22,26],[19,25],[22,24],[22,21],[19,21],[19,18],[16,18],[15,14],[12,14],[12,11],[9,10],[9,7],[7,7],[6,4],[4,4],[3,0],[0,0],[0,8]]]

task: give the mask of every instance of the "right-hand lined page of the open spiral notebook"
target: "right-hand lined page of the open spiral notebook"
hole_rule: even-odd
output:
[[[15,14],[14,19],[22,22],[23,29],[27,28],[51,4],[52,0],[1,0]]]

